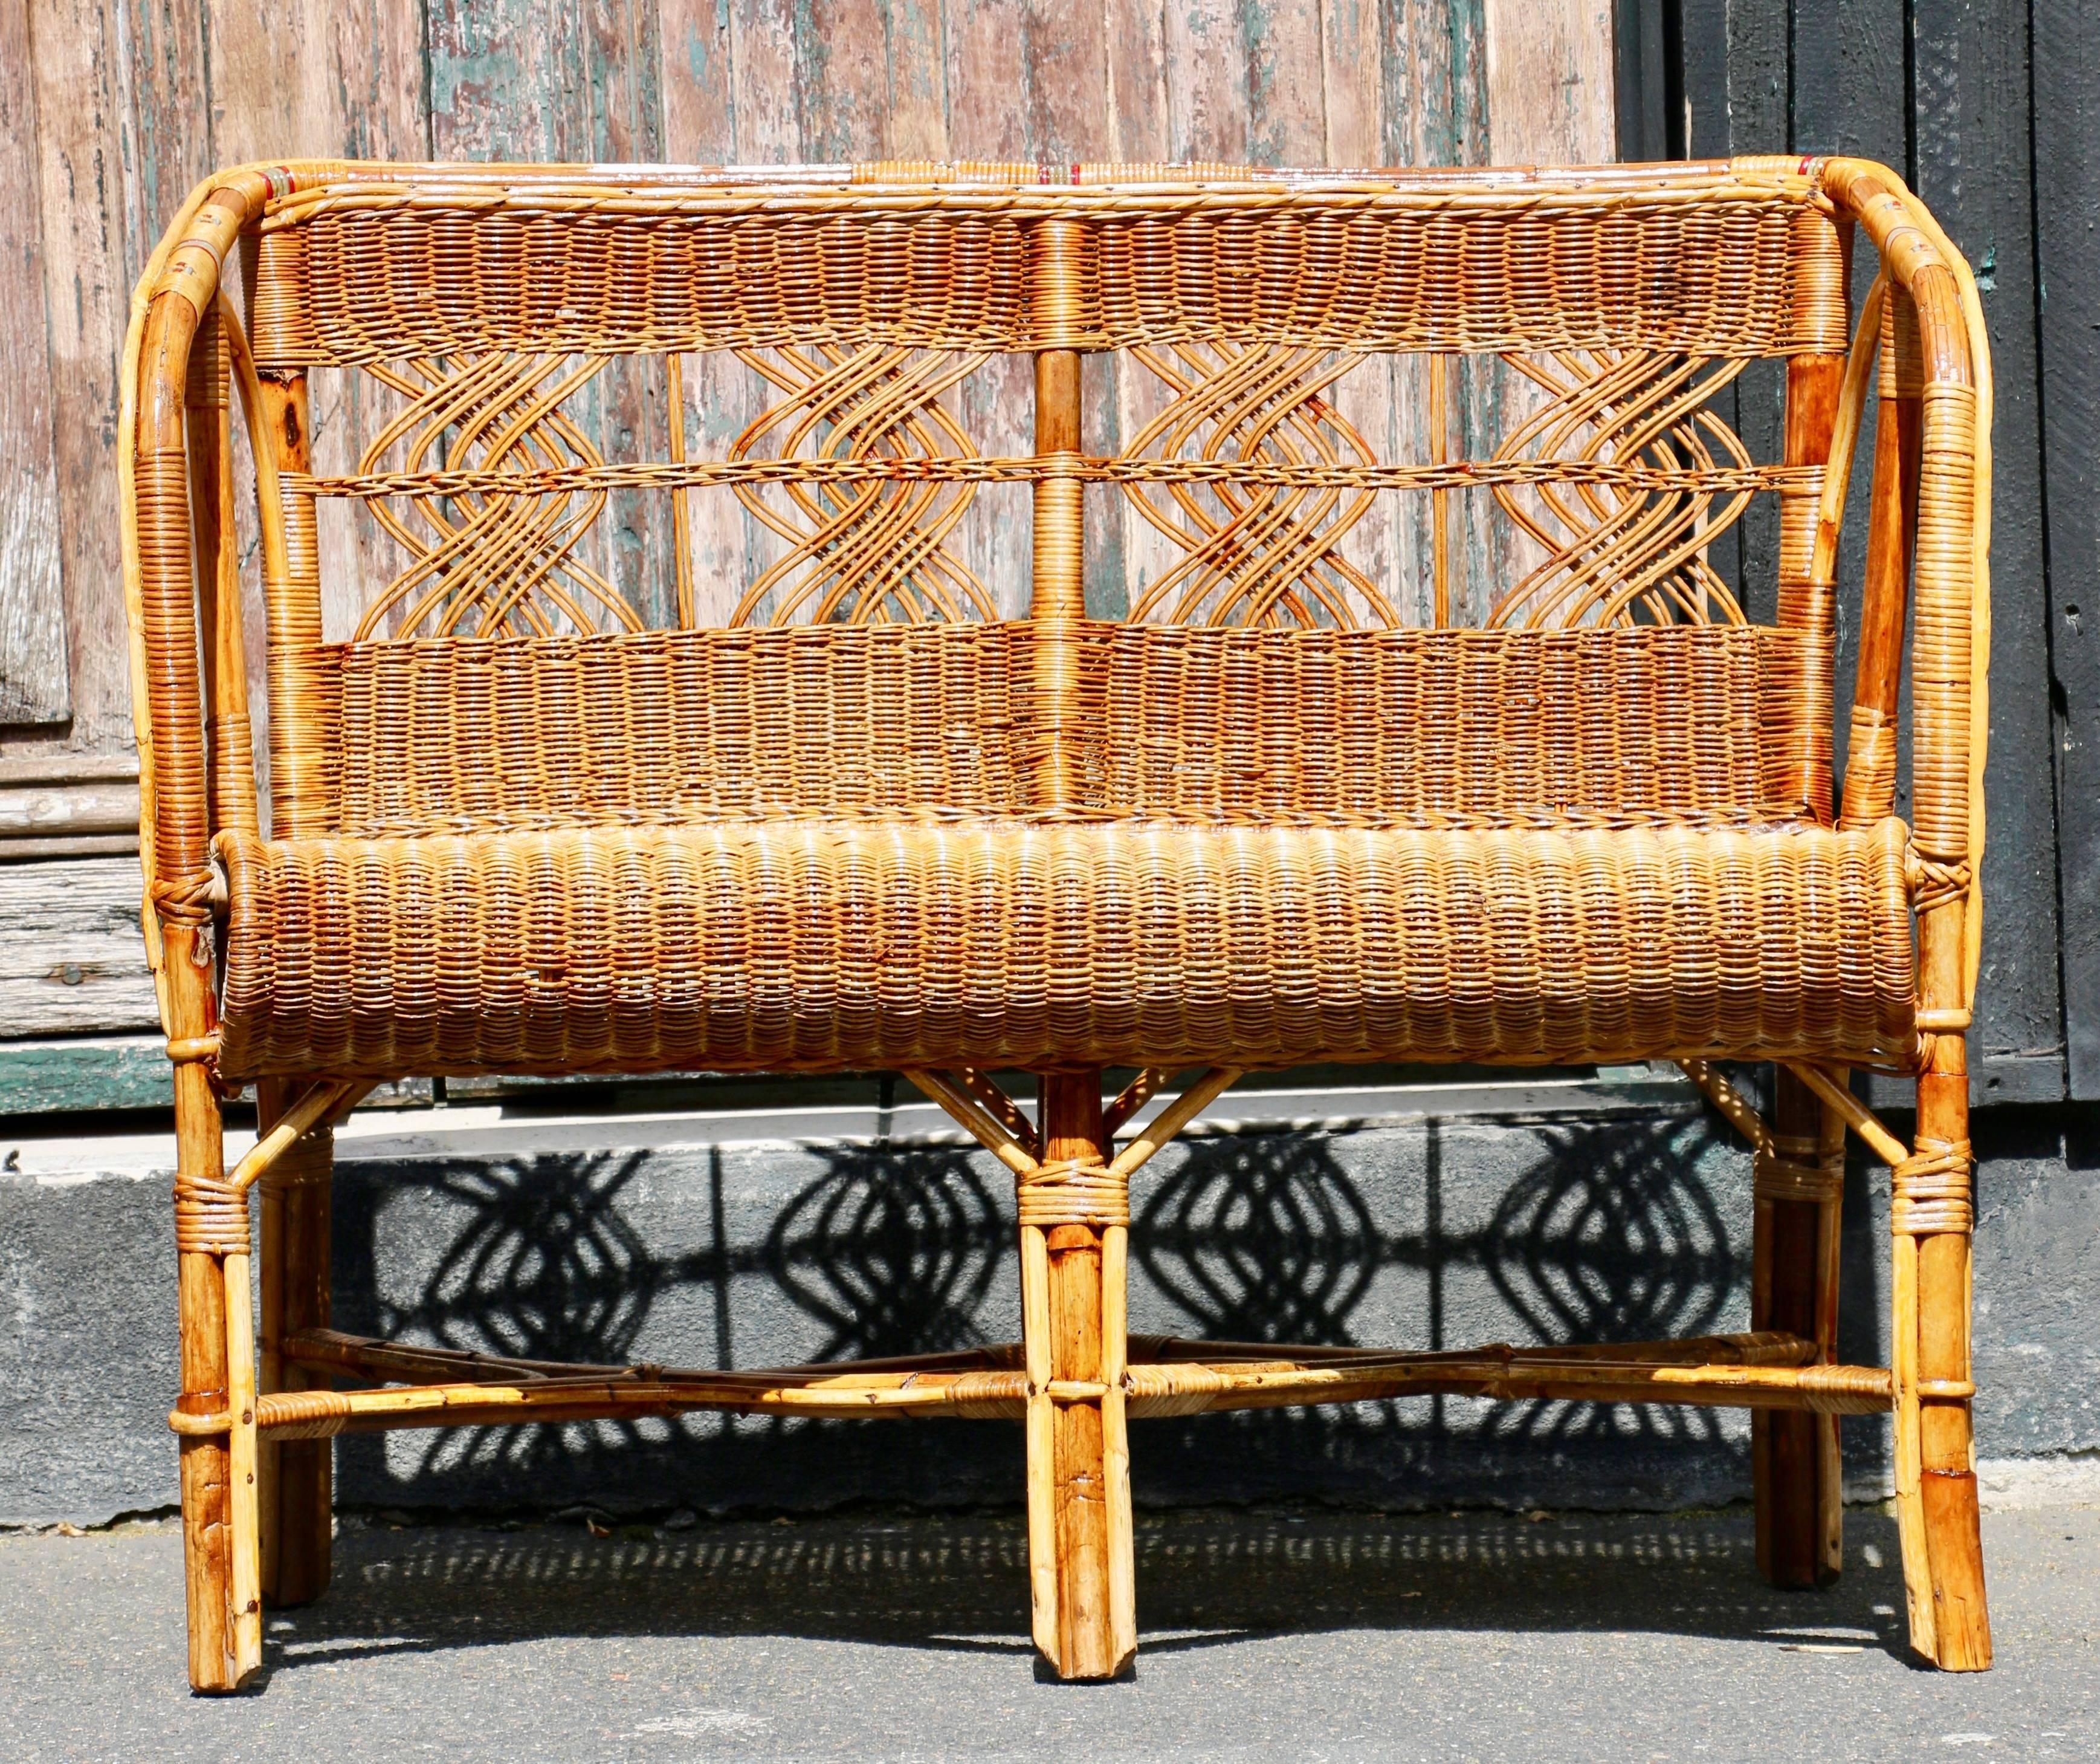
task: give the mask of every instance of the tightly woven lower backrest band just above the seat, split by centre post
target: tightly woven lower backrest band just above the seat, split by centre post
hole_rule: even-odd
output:
[[[764,815],[1029,815],[1029,624],[804,626],[328,651],[357,838]],[[1810,815],[1796,685],[1751,626],[1558,632],[1084,624],[1086,819],[1745,825]]]

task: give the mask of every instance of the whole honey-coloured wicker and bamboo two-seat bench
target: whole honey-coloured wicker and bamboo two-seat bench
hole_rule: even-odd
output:
[[[1724,420],[1754,363],[1779,460]],[[317,376],[357,386],[326,470]],[[1838,1415],[1892,1411],[1913,1644],[1987,1665],[1989,384],[1961,256],[1850,160],[208,181],[139,288],[122,418],[193,1684],[242,1684],[265,1602],[326,1586],[342,1430],[1021,1420],[1035,1644],[1100,1678],[1136,1646],[1128,1418],[1438,1392],[1749,1407],[1783,1586],[1838,1571]],[[1774,504],[1751,622],[1709,550]],[[1245,1069],[1369,1058],[1682,1063],[1756,1147],[1754,1329],[1128,1338],[1132,1174]],[[1770,1119],[1716,1060],[1774,1063]],[[668,1371],[330,1329],[330,1124],[372,1084],[844,1069],[907,1073],[1014,1172],[1018,1344]],[[1040,1073],[1035,1119],[989,1069]],[[1915,1077],[1913,1144],[1848,1069]],[[1886,1369],[1833,1354],[1848,1130],[1894,1172]]]

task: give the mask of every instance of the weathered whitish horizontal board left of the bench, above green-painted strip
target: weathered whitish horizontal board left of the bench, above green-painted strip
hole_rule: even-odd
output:
[[[149,1029],[139,859],[0,865],[0,1023],[10,1037]]]

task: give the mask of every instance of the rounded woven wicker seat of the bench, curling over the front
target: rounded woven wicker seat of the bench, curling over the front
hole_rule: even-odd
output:
[[[220,1071],[1909,1063],[1898,821],[225,836]]]

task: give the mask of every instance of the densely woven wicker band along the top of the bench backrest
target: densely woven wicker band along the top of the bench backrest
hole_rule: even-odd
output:
[[[1838,353],[1816,170],[304,166],[262,216],[254,353]]]

